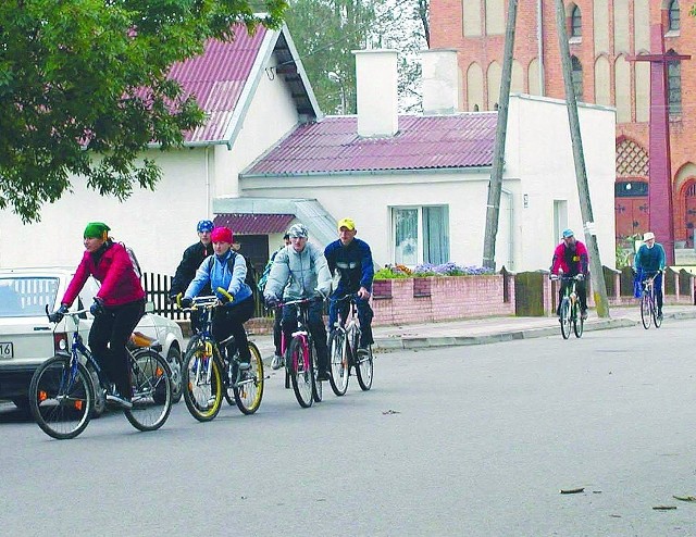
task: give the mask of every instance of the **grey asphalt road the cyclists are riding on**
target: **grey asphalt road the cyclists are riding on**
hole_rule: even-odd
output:
[[[3,405],[0,534],[693,536],[695,330],[384,353],[306,410],[273,373],[256,415],[156,433],[57,441]]]

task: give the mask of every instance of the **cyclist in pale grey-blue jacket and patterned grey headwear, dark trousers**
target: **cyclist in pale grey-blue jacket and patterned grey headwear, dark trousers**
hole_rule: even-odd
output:
[[[323,297],[331,290],[331,274],[324,252],[309,243],[309,230],[303,224],[294,224],[288,229],[290,246],[283,248],[273,262],[271,274],[263,291],[266,304],[275,308],[281,300],[311,299],[309,329],[316,348],[319,379],[328,380],[328,351],[326,326],[322,316]],[[293,339],[297,329],[297,305],[283,308],[281,321],[286,341]]]

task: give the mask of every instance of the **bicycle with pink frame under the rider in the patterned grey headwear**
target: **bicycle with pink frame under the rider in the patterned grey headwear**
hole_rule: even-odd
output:
[[[297,330],[293,333],[290,345],[285,340],[285,333],[281,339],[281,351],[285,357],[285,387],[293,385],[295,398],[300,407],[307,409],[312,402],[321,402],[323,391],[322,383],[319,380],[319,365],[316,363],[316,352],[314,340],[309,330],[309,305],[311,299],[289,300],[278,303],[285,308],[297,305]]]

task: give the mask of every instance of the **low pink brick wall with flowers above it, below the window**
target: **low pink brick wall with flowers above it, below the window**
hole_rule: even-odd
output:
[[[488,315],[514,315],[514,280],[502,275],[391,279],[390,296],[375,295],[374,325],[431,323]]]

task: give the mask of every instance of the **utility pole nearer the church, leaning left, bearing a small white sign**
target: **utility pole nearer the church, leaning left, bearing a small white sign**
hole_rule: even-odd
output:
[[[585,232],[585,243],[589,254],[589,274],[592,275],[592,286],[595,291],[595,305],[599,317],[609,316],[609,300],[607,299],[607,286],[605,275],[599,259],[599,247],[595,233],[595,218],[592,214],[592,203],[589,201],[589,185],[587,184],[587,171],[585,168],[585,157],[583,153],[583,140],[580,135],[580,118],[577,116],[577,101],[573,89],[572,68],[570,60],[570,46],[568,45],[568,34],[566,32],[566,7],[563,0],[556,0],[556,29],[558,32],[558,42],[561,52],[561,66],[563,70],[563,83],[566,86],[566,102],[568,107],[568,122],[570,124],[570,137],[573,143],[573,160],[575,162],[575,180],[577,182],[577,193],[580,197],[580,212],[583,217],[583,229]]]

